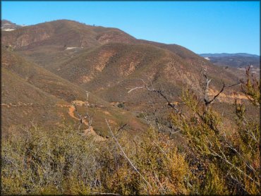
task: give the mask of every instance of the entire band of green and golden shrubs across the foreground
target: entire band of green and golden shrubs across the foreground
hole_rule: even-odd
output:
[[[249,69],[241,89],[260,108],[260,82]],[[170,105],[169,119],[183,147],[154,128],[130,137],[109,124],[111,137],[101,142],[68,125],[52,132],[32,126],[10,135],[2,141],[1,192],[260,195],[259,119],[249,119],[235,100],[236,126],[229,130],[212,99],[201,100],[189,90],[181,99],[186,114]]]

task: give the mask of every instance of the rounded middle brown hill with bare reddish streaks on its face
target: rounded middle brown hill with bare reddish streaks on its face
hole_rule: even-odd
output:
[[[190,59],[190,60],[187,60]],[[52,65],[50,70],[62,78],[81,85],[86,90],[102,95],[109,102],[133,100],[144,97],[127,94],[132,87],[141,85],[140,79],[162,85],[171,92],[181,92],[181,85],[190,85],[200,91],[200,70],[207,67],[218,88],[221,80],[233,83],[236,76],[212,66],[207,61],[190,56],[182,58],[174,52],[150,44],[104,44],[92,50],[81,51],[70,60]],[[197,60],[200,61],[198,65]],[[139,92],[137,92],[139,94]],[[147,92],[141,92],[147,94]]]

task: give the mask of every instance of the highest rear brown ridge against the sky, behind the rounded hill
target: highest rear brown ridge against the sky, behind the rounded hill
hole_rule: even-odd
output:
[[[2,32],[2,44],[14,49],[35,47],[94,47],[107,42],[132,42],[134,37],[116,28],[94,27],[72,20],[55,20]]]

